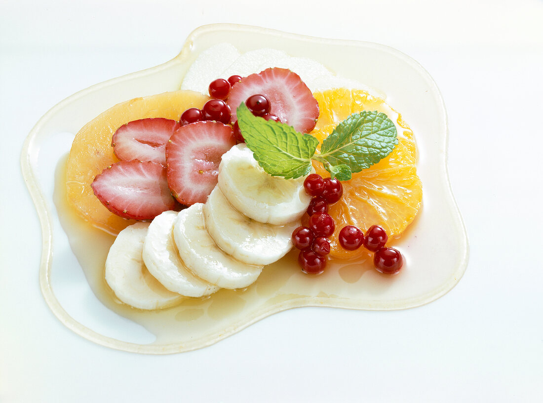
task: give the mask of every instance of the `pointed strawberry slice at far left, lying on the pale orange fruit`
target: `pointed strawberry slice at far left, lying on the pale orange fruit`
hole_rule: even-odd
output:
[[[166,168],[152,161],[119,161],[91,184],[96,197],[123,218],[150,220],[177,206],[168,188]]]

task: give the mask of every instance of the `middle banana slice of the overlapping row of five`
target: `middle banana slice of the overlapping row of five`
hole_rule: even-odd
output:
[[[224,253],[205,228],[202,207],[202,203],[195,203],[180,211],[174,223],[175,244],[185,265],[219,287],[249,286],[262,272],[262,266],[248,265]]]

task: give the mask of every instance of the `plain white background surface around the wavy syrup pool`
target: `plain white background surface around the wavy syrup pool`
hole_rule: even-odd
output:
[[[100,347],[53,316],[24,138],[60,100],[167,61],[216,22],[382,43],[430,72],[470,240],[451,292],[406,311],[298,308],[167,356]],[[540,401],[542,72],[541,0],[2,0],[0,401]]]

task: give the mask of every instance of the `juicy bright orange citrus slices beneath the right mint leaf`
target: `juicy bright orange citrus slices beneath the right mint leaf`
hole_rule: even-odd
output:
[[[416,144],[413,131],[383,99],[362,90],[346,89],[313,95],[319,103],[320,116],[311,134],[320,142],[339,122],[362,110],[383,112],[396,124],[398,144],[392,153],[342,182],[343,197],[330,206],[329,213],[336,221],[336,231],[330,239],[330,255],[350,259],[360,256],[365,249],[348,251],[338,244],[339,231],[345,225],[356,225],[365,232],[371,225],[378,224],[387,231],[389,239],[393,239],[399,237],[415,218],[422,202],[422,184],[416,174]],[[313,165],[317,173],[330,177],[321,163],[314,162]]]

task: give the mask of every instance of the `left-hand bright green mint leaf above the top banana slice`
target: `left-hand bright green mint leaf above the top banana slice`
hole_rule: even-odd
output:
[[[310,173],[317,138],[298,133],[287,124],[256,117],[245,103],[239,105],[236,114],[245,144],[264,171],[286,179]]]

